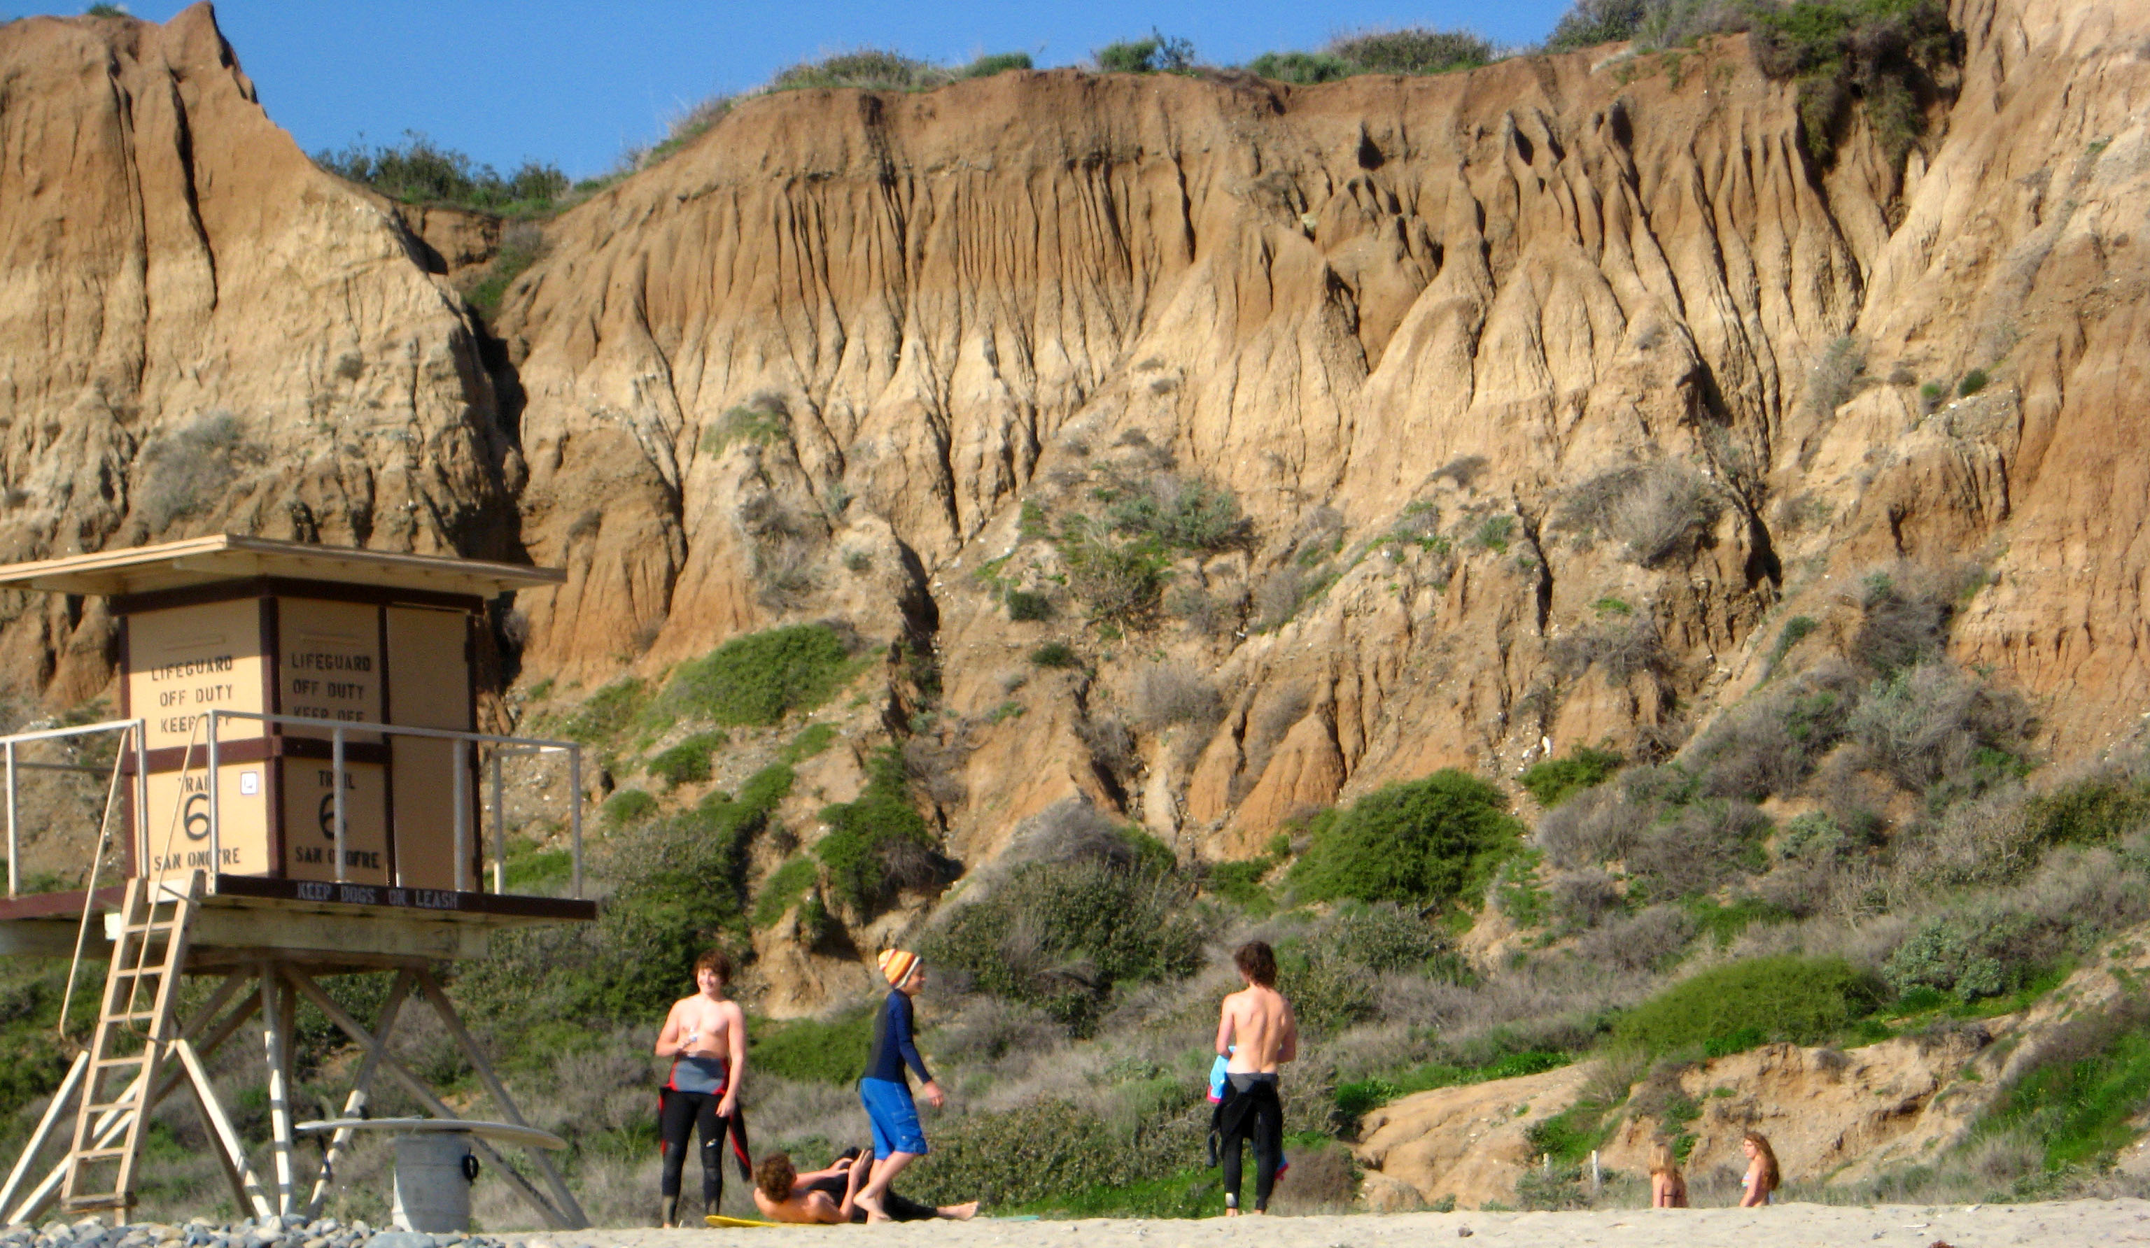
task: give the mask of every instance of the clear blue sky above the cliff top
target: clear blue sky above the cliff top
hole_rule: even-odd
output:
[[[86,6],[0,4],[13,15]],[[129,4],[150,21],[181,9],[181,0]],[[662,135],[686,105],[823,52],[894,47],[970,60],[1019,49],[1041,67],[1075,64],[1157,26],[1191,39],[1204,60],[1234,64],[1365,26],[1471,28],[1503,45],[1535,43],[1565,9],[1567,0],[221,0],[217,21],[269,116],[310,153],[361,133],[378,144],[421,131],[501,172],[535,157],[583,178],[628,144]]]

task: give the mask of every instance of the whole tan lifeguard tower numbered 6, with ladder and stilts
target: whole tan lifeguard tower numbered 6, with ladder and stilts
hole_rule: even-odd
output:
[[[596,917],[583,900],[578,748],[475,730],[473,636],[486,599],[561,580],[542,567],[230,535],[0,567],[0,589],[105,597],[120,629],[118,720],[0,737],[0,954],[108,962],[97,1029],[0,1186],[0,1222],[28,1222],[54,1201],[123,1216],[148,1117],[181,1089],[241,1209],[318,1211],[350,1126],[329,1138],[301,1196],[290,1104],[299,999],[363,1050],[342,1119],[366,1117],[381,1072],[436,1119],[458,1117],[389,1053],[396,1018],[417,997],[505,1123],[527,1128],[430,967],[482,958],[505,926]],[[110,769],[99,775],[103,818],[26,838],[17,778],[84,771],[88,743],[112,750],[110,763],[90,752],[97,771]],[[73,760],[43,758],[56,745],[73,748]],[[503,765],[531,754],[565,758],[568,896],[505,887]],[[75,872],[86,864],[82,887],[24,894],[26,840],[47,859],[58,844]],[[316,984],[363,971],[393,975],[372,1027]],[[189,975],[217,984],[181,1016]],[[73,982],[71,969],[69,992]],[[204,1068],[256,1018],[269,1078],[262,1171]],[[512,1136],[505,1126],[497,1134]],[[62,1141],[64,1153],[49,1149]],[[531,1153],[531,1181],[482,1136],[473,1147],[550,1227],[587,1227],[544,1153]],[[47,1151],[56,1160],[41,1169]]]

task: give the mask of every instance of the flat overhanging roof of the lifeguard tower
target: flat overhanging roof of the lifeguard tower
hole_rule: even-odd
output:
[[[0,589],[80,595],[138,595],[249,578],[333,580],[492,597],[514,589],[561,584],[568,574],[557,567],[312,546],[234,533],[0,567]]]

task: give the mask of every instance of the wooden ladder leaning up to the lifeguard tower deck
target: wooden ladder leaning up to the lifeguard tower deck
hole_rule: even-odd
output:
[[[148,1130],[142,1102],[178,1037],[178,973],[200,898],[202,872],[189,872],[185,887],[148,876],[127,881],[60,1186],[60,1207],[71,1214],[125,1214],[135,1203],[133,1175]]]

